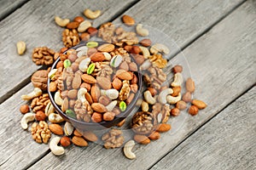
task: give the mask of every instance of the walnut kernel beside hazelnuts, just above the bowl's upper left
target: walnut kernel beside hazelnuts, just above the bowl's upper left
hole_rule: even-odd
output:
[[[67,48],[72,48],[73,46],[79,44],[79,32],[76,29],[65,29],[62,32],[62,42]]]

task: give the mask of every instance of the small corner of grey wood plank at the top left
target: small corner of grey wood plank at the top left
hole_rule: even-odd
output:
[[[1,0],[0,1],[0,20],[3,20],[4,17],[11,14],[15,11],[16,8],[19,8],[22,4],[26,3],[28,0]]]

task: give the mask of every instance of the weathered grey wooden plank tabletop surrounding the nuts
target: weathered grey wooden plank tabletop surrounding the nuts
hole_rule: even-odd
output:
[[[255,0],[1,0],[0,1],[0,169],[255,169],[256,168],[256,1]],[[20,128],[21,94],[40,66],[32,49],[62,47],[54,16],[73,19],[84,8],[101,9],[93,26],[120,23],[123,14],[177,42],[195,79],[195,98],[208,107],[187,116],[176,132],[148,145],[137,159],[99,144],[71,146],[54,156]],[[163,24],[164,23],[164,24]],[[16,54],[15,42],[27,51]],[[172,135],[170,135],[172,133]]]

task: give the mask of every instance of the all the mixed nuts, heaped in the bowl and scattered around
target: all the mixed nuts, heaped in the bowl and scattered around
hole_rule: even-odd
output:
[[[100,14],[99,10],[84,10],[88,19],[94,20]],[[135,25],[131,16],[124,15],[122,20],[126,26]],[[54,96],[55,104],[67,116],[81,122],[94,123],[113,121],[115,116],[131,105],[137,93],[143,93],[143,99],[137,101],[139,111],[131,120],[126,120],[131,124],[134,140],[123,144],[125,138],[122,130],[117,128],[102,135],[105,148],[124,145],[124,154],[129,159],[136,158],[131,151],[135,141],[148,144],[151,140],[160,139],[160,133],[171,129],[171,125],[167,124],[169,117],[178,116],[180,111],[187,109],[189,103],[192,105],[188,111],[192,116],[207,107],[203,101],[192,99],[195,82],[191,78],[185,81],[186,92],[182,94],[182,65],[173,66],[174,79],[172,82],[167,80],[162,70],[167,65],[163,56],[169,54],[170,50],[165,44],[153,44],[148,38],[139,41],[139,37],[147,37],[149,34],[142,24],[138,24],[136,32],[133,32],[115,27],[110,22],[96,29],[82,16],[75,17],[73,21],[56,16],[55,23],[65,27],[62,32],[65,47],[59,53],[47,47],[33,50],[32,61],[36,65],[51,66],[56,59],[59,60],[54,68],[36,71],[32,75],[34,90],[21,96],[31,101],[31,104],[20,106],[20,112],[24,114],[21,127],[27,129],[28,122],[33,122],[30,129],[32,139],[44,144],[50,141],[49,149],[53,154],[64,154],[63,147],[72,143],[82,147],[87,146],[88,141],[96,142],[100,139],[90,130],[81,130],[65,122],[55,112],[47,88]],[[96,35],[104,42],[89,41],[90,37]],[[80,41],[86,43],[79,48],[72,48]],[[18,54],[23,54],[26,51],[25,42],[18,42],[17,50]],[[138,91],[137,71],[143,74],[143,92]],[[117,126],[121,127],[124,123],[125,120]],[[52,133],[56,136],[51,139]]]

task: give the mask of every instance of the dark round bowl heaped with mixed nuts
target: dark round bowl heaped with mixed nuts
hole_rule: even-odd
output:
[[[121,122],[136,106],[142,88],[137,61],[108,42],[81,42],[55,60],[48,75],[51,103],[79,129]]]

